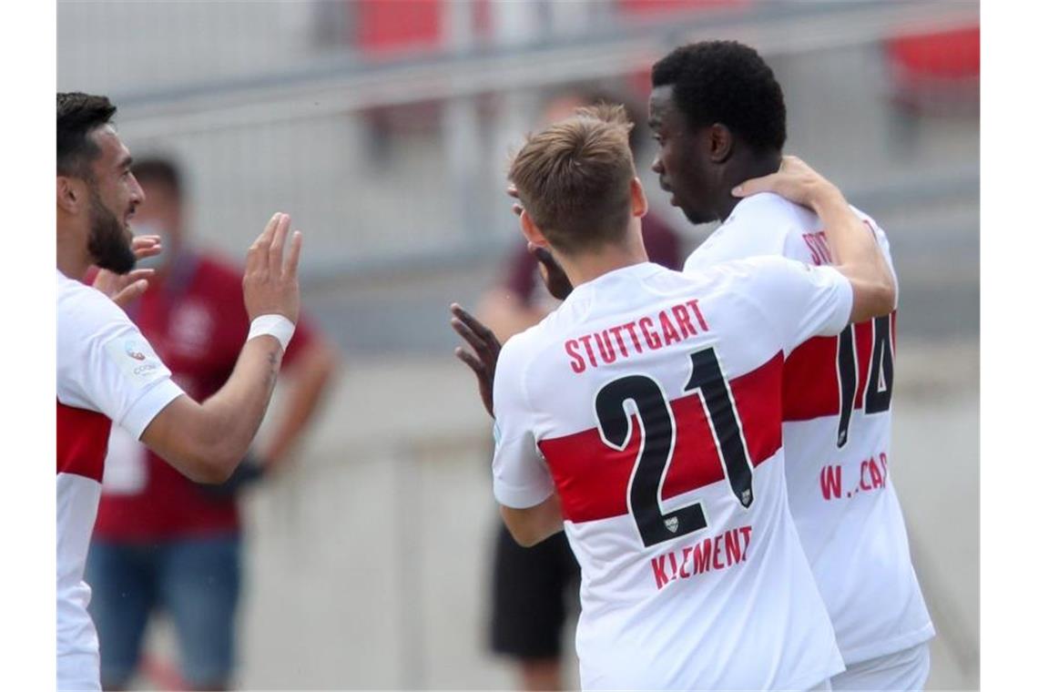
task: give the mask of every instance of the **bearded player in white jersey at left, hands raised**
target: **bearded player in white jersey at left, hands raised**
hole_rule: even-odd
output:
[[[98,690],[98,637],[83,565],[112,423],[188,477],[226,479],[260,426],[299,314],[302,237],[275,214],[249,249],[243,279],[252,320],[235,371],[198,404],[126,313],[84,285],[91,265],[126,275],[130,219],[143,199],[107,98],[57,94],[57,670],[58,689]],[[288,256],[285,257],[285,244]],[[109,277],[110,278],[110,277]],[[117,283],[117,282],[116,282]],[[140,281],[127,288],[136,293]]]

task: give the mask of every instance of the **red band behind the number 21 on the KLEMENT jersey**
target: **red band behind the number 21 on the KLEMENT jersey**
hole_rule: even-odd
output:
[[[754,466],[782,446],[782,372],[778,353],[729,382]],[[725,479],[702,397],[691,393],[672,400],[671,408],[677,434],[661,489],[663,499]],[[602,442],[597,427],[541,440],[539,446],[555,481],[564,518],[579,523],[628,513],[627,489],[641,447],[637,417],[631,417],[631,438],[621,451]]]

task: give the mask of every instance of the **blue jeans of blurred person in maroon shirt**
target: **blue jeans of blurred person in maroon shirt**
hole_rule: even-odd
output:
[[[222,534],[156,544],[94,538],[86,562],[90,615],[101,641],[105,689],[129,685],[148,617],[163,610],[176,632],[177,669],[199,689],[225,684],[234,664],[241,537]]]

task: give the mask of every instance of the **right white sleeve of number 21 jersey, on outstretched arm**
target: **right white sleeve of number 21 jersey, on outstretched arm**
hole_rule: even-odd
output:
[[[814,336],[839,334],[850,322],[850,281],[831,267],[785,257],[747,259],[754,298],[774,324],[787,353]]]

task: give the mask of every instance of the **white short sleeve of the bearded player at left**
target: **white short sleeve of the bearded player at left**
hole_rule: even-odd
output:
[[[101,294],[77,293],[58,303],[58,398],[139,439],[184,391],[122,310]]]

